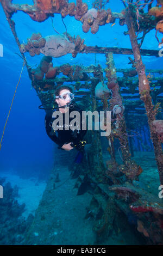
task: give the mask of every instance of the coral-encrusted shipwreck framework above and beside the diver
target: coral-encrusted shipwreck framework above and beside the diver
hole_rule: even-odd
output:
[[[88,215],[95,218],[93,229],[98,236],[104,232],[108,234],[118,208],[125,215],[132,212],[137,216],[137,230],[145,237],[147,243],[162,244],[163,205],[158,198],[152,197],[151,194],[133,185],[133,181],[139,180],[139,175],[143,170],[132,160],[134,150],[131,137],[135,127],[141,128],[138,125],[140,120],[141,125],[148,124],[160,184],[163,184],[161,146],[163,142],[163,120],[161,120],[163,97],[159,96],[163,92],[163,78],[157,77],[157,74],[162,75],[163,70],[146,70],[141,58],[141,56],[159,57],[158,51],[142,49],[141,46],[146,34],[152,29],[156,29],[155,36],[158,41],[157,33],[163,33],[163,1],[158,0],[156,6],[153,6],[154,1],[150,0],[122,1],[124,9],[121,13],[106,9],[109,1],[102,0],[94,1],[91,9],[82,0],[77,0],[76,4],[68,3],[67,0],[35,0],[33,2],[33,5],[28,5],[13,4],[11,0],[1,0],[41,106],[45,111],[52,109],[55,88],[71,82],[79,104],[83,105],[86,111],[109,110],[112,113],[111,134],[107,137],[110,160],[106,164],[103,161],[99,132],[87,133],[87,140],[92,144],[93,150],[84,160],[86,165],[81,167],[83,173],[77,182],[80,186],[86,179],[87,182],[96,185],[88,209]],[[144,8],[148,9],[147,13]],[[105,26],[108,23],[114,25],[118,20],[120,26],[126,24],[128,27],[128,31],[124,34],[129,36],[131,48],[87,46],[79,35],[75,37],[67,31],[62,35],[47,35],[45,38],[39,32],[33,33],[26,42],[20,42],[16,34],[15,22],[12,20],[12,16],[17,11],[23,11],[37,22],[50,19],[54,14],[60,14],[62,19],[67,15],[74,16],[77,21],[82,22],[83,32],[91,31],[92,34],[98,33],[99,26]],[[143,35],[138,38],[140,32],[143,32]],[[163,38],[158,43],[163,44]],[[91,64],[84,66],[63,63],[60,66],[53,66],[53,58],[64,56],[67,53],[71,53],[73,58],[78,53],[104,54],[105,69],[101,65]],[[29,54],[33,58],[39,54],[43,56],[35,69],[28,65]],[[132,54],[133,58],[129,57],[131,68],[117,69],[114,54]],[[135,93],[139,95],[135,96]],[[133,96],[126,94],[133,94]],[[133,98],[134,101],[132,101]],[[145,130],[143,132],[146,133]],[[118,141],[118,150],[121,151],[121,163],[116,159],[115,141]],[[85,169],[84,166],[87,168]],[[47,191],[53,187],[52,181],[53,173],[39,209],[45,207],[43,202],[45,202]],[[49,202],[49,205],[51,204],[53,202]],[[36,214],[31,230],[38,225],[39,217],[39,214]],[[31,230],[27,235],[27,243],[34,242],[34,237],[30,236]]]

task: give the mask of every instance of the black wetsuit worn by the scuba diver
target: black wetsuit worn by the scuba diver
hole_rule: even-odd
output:
[[[58,109],[57,109],[58,111]],[[59,145],[59,148],[61,149],[62,145],[65,143],[73,142],[74,145],[79,144],[79,142],[83,139],[84,135],[86,134],[85,130],[82,130],[82,122],[85,120],[82,120],[82,109],[80,109],[78,106],[74,106],[72,109],[69,108],[69,114],[72,111],[79,111],[80,113],[80,127],[79,130],[72,131],[71,129],[65,130],[65,114],[63,113],[63,130],[57,130],[54,131],[52,127],[52,123],[56,118],[53,118],[53,112],[46,114],[45,117],[45,127],[46,132],[49,138],[52,139],[55,143]],[[69,118],[69,124],[71,123],[71,120],[74,118]],[[78,149],[78,147],[76,147]]]

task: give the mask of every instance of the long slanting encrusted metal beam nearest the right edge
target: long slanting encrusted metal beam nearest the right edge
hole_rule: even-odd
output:
[[[126,9],[126,24],[128,27],[128,34],[130,36],[131,46],[134,53],[134,59],[136,63],[136,71],[139,76],[139,93],[141,100],[145,103],[148,125],[151,132],[151,139],[153,142],[156,164],[159,170],[160,182],[163,184],[163,153],[161,142],[158,135],[153,131],[153,121],[155,120],[156,111],[152,103],[152,97],[150,95],[149,81],[146,76],[145,65],[142,62],[141,52],[137,43],[137,38],[134,29],[134,20],[132,17],[132,10]]]

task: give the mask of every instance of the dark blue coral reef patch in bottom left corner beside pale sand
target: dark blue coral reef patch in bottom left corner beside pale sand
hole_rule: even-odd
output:
[[[25,204],[18,204],[18,187],[11,187],[5,183],[5,179],[0,179],[3,185],[4,198],[0,200],[0,245],[22,245],[24,235],[29,225],[32,224],[33,215],[29,215],[27,220],[22,217]]]

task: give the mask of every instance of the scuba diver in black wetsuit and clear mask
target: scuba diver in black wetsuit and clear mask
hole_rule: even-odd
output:
[[[81,159],[83,155],[83,154],[81,155],[81,153],[83,153],[84,146],[86,144],[86,141],[83,140],[83,137],[86,134],[86,130],[82,130],[82,123],[85,121],[85,120],[82,120],[82,109],[80,109],[76,104],[72,103],[73,99],[74,99],[74,94],[70,86],[59,86],[55,90],[55,102],[57,102],[58,108],[54,109],[54,111],[59,111],[60,113],[62,113],[63,125],[61,125],[61,129],[58,129],[58,130],[53,129],[53,121],[56,118],[52,117],[54,113],[54,111],[52,111],[46,114],[45,127],[46,127],[47,135],[49,136],[49,138],[52,139],[52,141],[58,144],[59,149],[70,151],[73,148],[76,148],[80,153],[77,156],[77,161],[79,161],[79,158]],[[79,125],[77,124],[77,128],[71,130],[70,125],[68,124],[69,129],[65,130],[65,127],[67,125],[65,124],[65,113],[67,111],[69,111],[69,120],[70,120],[69,124],[73,119],[70,117],[70,113],[72,111],[78,111],[80,113],[80,122],[79,122],[80,128],[78,127]]]

